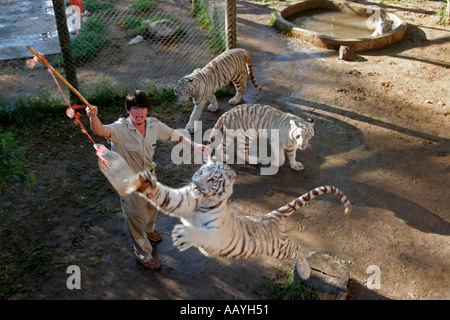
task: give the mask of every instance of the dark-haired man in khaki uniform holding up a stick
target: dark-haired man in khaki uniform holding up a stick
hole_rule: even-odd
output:
[[[125,108],[128,118],[120,118],[116,122],[103,125],[97,117],[98,109],[86,108],[92,131],[99,136],[111,140],[111,150],[118,152],[135,171],[152,170],[156,142],[166,142],[169,139],[189,144],[194,151],[209,155],[211,149],[202,144],[196,144],[180,132],[171,129],[158,119],[147,117],[150,102],[147,95],[136,90],[127,95]],[[152,257],[152,245],[161,241],[161,235],[155,230],[157,209],[150,202],[136,193],[120,196],[122,211],[133,238],[133,247],[137,259],[147,268],[156,270],[160,263]]]

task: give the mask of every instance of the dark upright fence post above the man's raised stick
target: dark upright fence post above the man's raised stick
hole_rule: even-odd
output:
[[[64,0],[52,0],[53,10],[55,11],[56,28],[58,30],[59,46],[63,58],[63,68],[67,81],[73,88],[78,89],[77,73],[75,62],[73,60],[72,42],[70,40],[69,28],[67,28],[66,8]],[[81,18],[81,17],[80,17]],[[69,87],[70,88],[70,87]],[[70,103],[77,104],[77,95],[74,91],[70,92]]]

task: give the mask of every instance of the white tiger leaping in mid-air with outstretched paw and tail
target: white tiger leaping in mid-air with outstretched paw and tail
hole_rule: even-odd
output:
[[[179,250],[192,246],[203,254],[238,259],[267,255],[296,260],[300,276],[307,279],[310,267],[298,244],[287,236],[284,219],[315,197],[332,193],[349,214],[352,205],[335,187],[315,188],[287,205],[261,217],[239,216],[228,212],[228,198],[233,193],[236,173],[226,164],[211,158],[195,172],[189,186],[172,189],[157,182],[149,171],[139,173],[140,195],[162,212],[181,219],[172,231]]]

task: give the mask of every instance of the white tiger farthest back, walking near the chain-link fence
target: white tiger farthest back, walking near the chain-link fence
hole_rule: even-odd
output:
[[[247,72],[255,86],[260,91],[267,91],[256,83],[253,74],[252,61],[245,49],[226,50],[202,69],[195,69],[184,76],[175,87],[175,93],[181,104],[187,104],[192,98],[194,110],[186,125],[186,130],[194,132],[195,122],[200,119],[206,103],[210,103],[208,110],[215,112],[219,109],[215,93],[232,82],[236,88],[236,95],[228,101],[230,105],[237,105],[247,89]]]

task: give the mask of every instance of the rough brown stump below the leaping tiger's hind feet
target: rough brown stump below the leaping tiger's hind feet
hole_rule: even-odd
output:
[[[347,283],[350,271],[347,266],[335,257],[323,252],[308,255],[311,265],[311,276],[303,280],[303,284],[317,290],[321,300],[345,300],[348,295]],[[294,265],[293,282],[299,281],[297,263]]]

